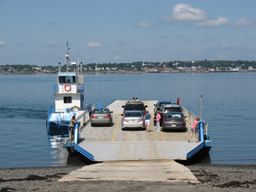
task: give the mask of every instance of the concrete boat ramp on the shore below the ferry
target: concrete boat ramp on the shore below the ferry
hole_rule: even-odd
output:
[[[199,183],[190,170],[173,160],[116,161],[84,166],[59,181],[132,180]]]

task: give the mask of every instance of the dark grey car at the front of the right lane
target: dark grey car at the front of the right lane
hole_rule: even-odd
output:
[[[186,119],[181,112],[167,112],[164,114],[162,131],[180,129],[186,130]]]

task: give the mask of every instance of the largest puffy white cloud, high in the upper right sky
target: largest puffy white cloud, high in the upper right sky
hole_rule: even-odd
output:
[[[188,4],[176,4],[172,9],[172,19],[180,21],[207,20],[208,14],[204,10]]]

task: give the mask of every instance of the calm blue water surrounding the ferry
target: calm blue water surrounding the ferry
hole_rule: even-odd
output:
[[[64,136],[48,135],[56,75],[0,75],[0,168],[78,164]],[[211,164],[256,164],[256,73],[84,75],[87,103],[173,100],[201,114],[212,139]]]

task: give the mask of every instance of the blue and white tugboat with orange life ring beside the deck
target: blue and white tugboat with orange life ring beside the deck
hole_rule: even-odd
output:
[[[46,125],[48,129],[66,130],[72,116],[84,124],[89,119],[88,113],[85,113],[84,106],[84,76],[82,75],[82,62],[69,63],[69,47],[67,42],[67,54],[64,64],[67,72],[60,72],[64,64],[60,65],[57,74],[57,84],[53,85],[53,95],[55,105],[48,107]],[[71,65],[70,65],[71,64]],[[72,71],[68,71],[69,66]]]

